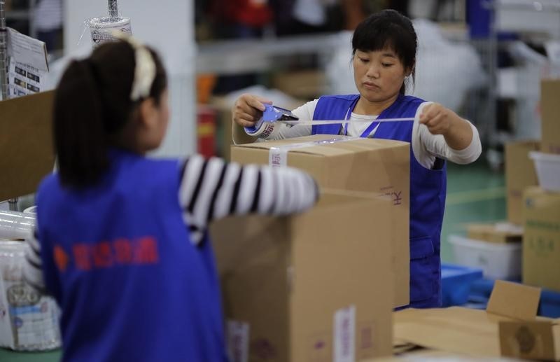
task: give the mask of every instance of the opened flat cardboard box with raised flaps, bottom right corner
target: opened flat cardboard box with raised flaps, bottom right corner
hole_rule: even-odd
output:
[[[478,358],[560,361],[558,320],[536,317],[540,288],[496,281],[486,311],[462,307],[394,314],[395,338]]]

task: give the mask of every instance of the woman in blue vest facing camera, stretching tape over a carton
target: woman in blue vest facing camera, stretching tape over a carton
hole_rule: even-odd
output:
[[[293,113],[300,120],[360,120],[344,125],[263,123],[251,135],[266,99],[243,95],[232,109],[234,140],[284,139],[309,134],[396,139],[411,143],[410,165],[410,307],[441,305],[440,234],[446,194],[445,160],[475,161],[480,153],[476,128],[441,104],[405,95],[414,79],[416,32],[397,11],[370,15],[352,38],[353,73],[358,95],[323,96]],[[379,123],[383,118],[414,122]]]

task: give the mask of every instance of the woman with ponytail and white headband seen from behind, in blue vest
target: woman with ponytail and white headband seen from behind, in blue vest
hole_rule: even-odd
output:
[[[59,170],[39,187],[24,275],[62,308],[63,361],[226,361],[207,225],[316,202],[295,169],[146,158],[168,118],[162,62],[133,39],[72,62],[57,87]]]

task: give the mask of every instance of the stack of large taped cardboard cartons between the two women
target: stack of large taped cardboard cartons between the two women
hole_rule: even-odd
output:
[[[232,146],[236,162],[306,170],[323,194],[301,215],[212,228],[232,360],[391,355],[393,307],[409,303],[409,155],[332,135]]]

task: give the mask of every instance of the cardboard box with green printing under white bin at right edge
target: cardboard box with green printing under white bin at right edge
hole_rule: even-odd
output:
[[[560,291],[560,193],[524,193],[523,282]]]

